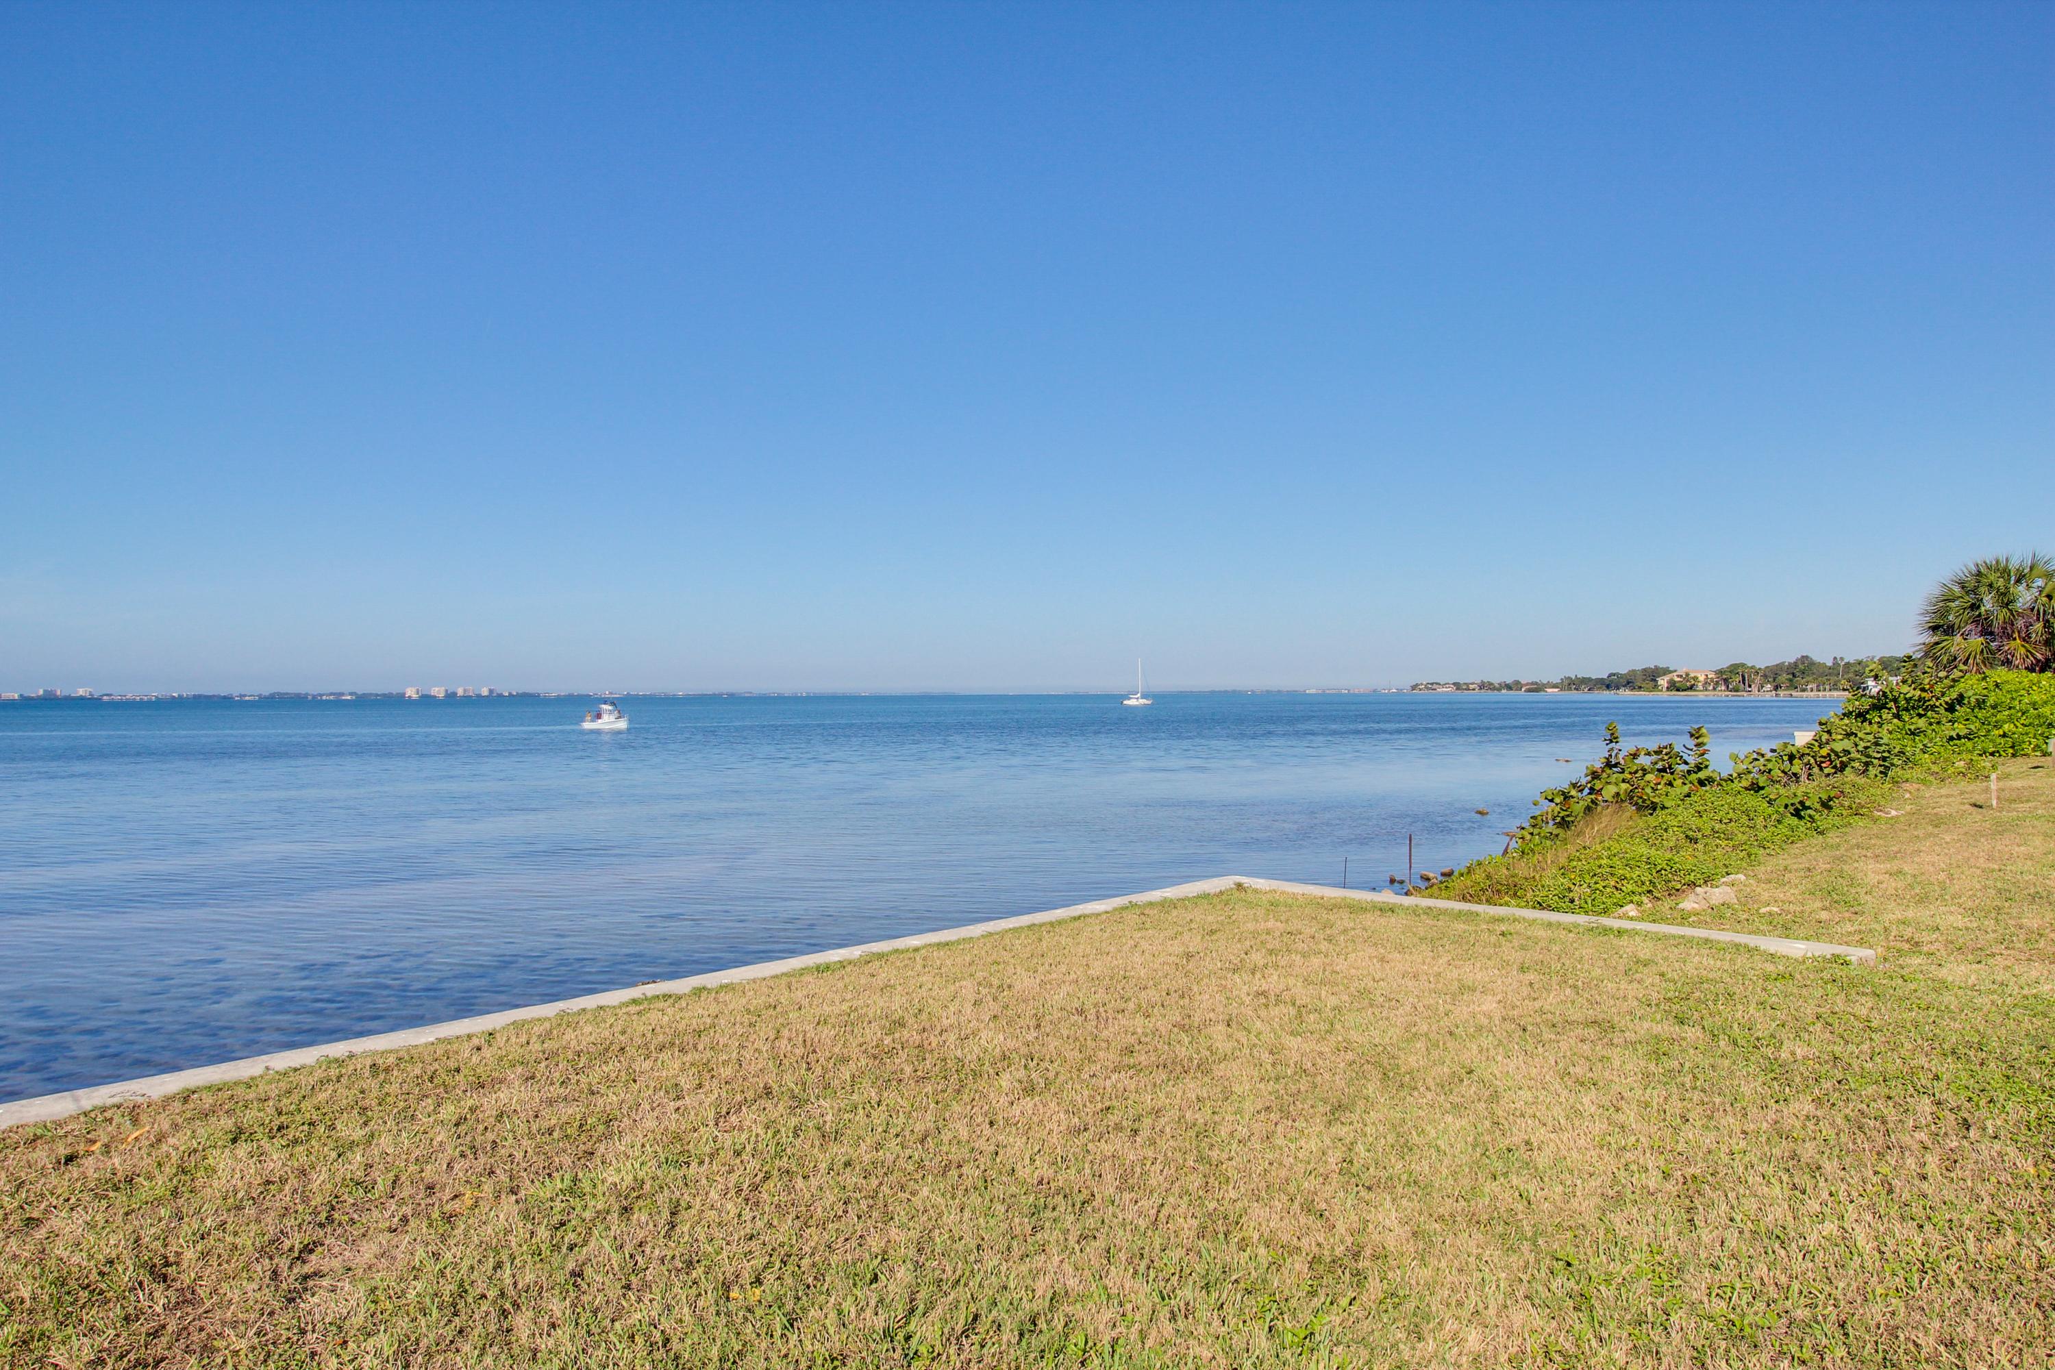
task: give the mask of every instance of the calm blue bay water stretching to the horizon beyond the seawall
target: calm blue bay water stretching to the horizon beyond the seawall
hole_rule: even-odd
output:
[[[1601,750],[1831,700],[0,705],[0,1099],[1208,875],[1496,852]],[[1478,815],[1473,809],[1490,809]]]

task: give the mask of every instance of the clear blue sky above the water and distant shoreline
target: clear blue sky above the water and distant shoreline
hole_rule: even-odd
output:
[[[0,688],[1903,647],[2055,6],[0,8]]]

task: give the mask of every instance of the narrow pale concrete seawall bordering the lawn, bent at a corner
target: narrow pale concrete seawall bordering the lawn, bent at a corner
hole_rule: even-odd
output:
[[[1064,918],[1081,918],[1085,914],[1104,914],[1116,908],[1126,908],[1130,904],[1184,900],[1200,893],[1221,893],[1225,889],[1235,889],[1235,887],[1274,889],[1280,893],[1307,893],[1317,898],[1360,900],[1367,904],[1447,908],[1447,910],[1463,910],[1475,914],[1496,914],[1506,918],[1535,918],[1541,922],[1584,924],[1599,928],[1617,928],[1623,933],[1691,937],[1702,941],[1732,943],[1736,947],[1753,947],[1757,951],[1769,951],[1776,955],[1841,957],[1856,965],[1876,963],[1876,953],[1866,947],[1839,947],[1835,943],[1813,943],[1796,937],[1757,937],[1751,933],[1720,933],[1716,928],[1689,928],[1665,922],[1630,922],[1626,918],[1591,918],[1586,914],[1556,914],[1539,908],[1459,904],[1455,900],[1399,896],[1399,893],[1387,893],[1383,889],[1336,889],[1332,885],[1301,885],[1295,881],[1262,879],[1251,875],[1221,875],[1217,879],[1202,879],[1186,885],[1167,885],[1163,889],[1145,889],[1143,893],[1128,893],[1112,900],[1093,900],[1091,904],[1071,904],[1067,908],[1050,908],[1040,914],[995,918],[991,922],[972,922],[960,928],[941,928],[935,933],[917,933],[912,937],[894,937],[880,943],[861,943],[857,947],[814,951],[799,957],[785,957],[783,961],[758,961],[756,965],[738,965],[734,969],[717,969],[717,972],[707,972],[703,976],[686,976],[682,980],[658,980],[651,984],[629,986],[625,990],[606,990],[602,994],[584,994],[580,998],[559,998],[549,1004],[530,1004],[526,1009],[503,1009],[499,1013],[485,1013],[471,1019],[452,1019],[448,1023],[429,1023],[427,1027],[409,1027],[395,1033],[376,1033],[372,1037],[349,1037],[345,1041],[327,1041],[310,1048],[294,1048],[290,1052],[269,1052],[265,1056],[245,1056],[242,1060],[230,1060],[218,1066],[195,1066],[191,1070],[173,1070],[166,1074],[152,1074],[138,1080],[121,1080],[117,1084],[97,1084],[90,1089],[72,1089],[55,1095],[39,1095],[35,1099],[18,1099],[14,1103],[0,1103],[0,1128],[12,1128],[16,1124],[49,1121],[55,1117],[70,1117],[72,1113],[84,1113],[86,1109],[97,1109],[109,1103],[162,1099],[164,1095],[175,1095],[187,1089],[199,1089],[203,1084],[224,1084],[228,1080],[247,1080],[251,1076],[265,1074],[267,1070],[290,1070],[294,1066],[310,1066],[316,1060],[327,1060],[327,1058],[358,1056],[362,1052],[390,1052],[395,1048],[421,1045],[425,1041],[442,1041],[444,1037],[464,1037],[469,1033],[483,1033],[495,1027],[506,1027],[508,1023],[522,1023],[526,1019],[547,1019],[559,1013],[575,1013],[580,1009],[604,1009],[608,1004],[625,1004],[637,998],[651,998],[662,994],[686,994],[690,990],[707,990],[721,984],[738,984],[742,980],[764,980],[769,976],[783,976],[787,972],[808,969],[812,965],[832,965],[836,961],[853,961],[855,957],[873,955],[880,951],[908,951],[912,947],[933,947],[937,943],[954,943],[966,937],[984,937],[988,933],[1025,928],[1038,922],[1058,922]]]

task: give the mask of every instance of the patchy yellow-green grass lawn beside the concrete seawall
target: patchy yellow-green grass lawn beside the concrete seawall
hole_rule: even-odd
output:
[[[1716,910],[1874,969],[1239,891],[0,1132],[0,1362],[2045,1366],[2004,770]]]

